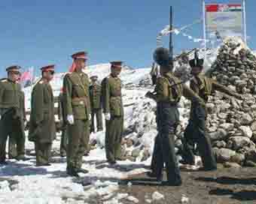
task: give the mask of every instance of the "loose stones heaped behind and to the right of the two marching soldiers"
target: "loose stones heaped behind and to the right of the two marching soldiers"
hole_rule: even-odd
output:
[[[218,50],[212,64],[212,78],[239,92],[244,100],[238,100],[220,92],[209,97],[207,104],[207,130],[212,140],[218,163],[224,166],[256,166],[256,57],[250,49],[236,40],[226,40]],[[145,138],[157,134],[152,103],[144,98],[133,110],[130,131],[123,141],[123,154],[130,160],[145,160],[152,149],[145,144]],[[181,121],[175,136],[175,151],[178,160],[182,149],[181,138],[189,117],[190,103],[181,100]],[[149,116],[151,115],[151,116]],[[154,139],[151,138],[151,148]]]

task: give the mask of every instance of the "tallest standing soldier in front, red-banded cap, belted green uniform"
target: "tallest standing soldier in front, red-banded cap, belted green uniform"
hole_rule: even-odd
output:
[[[63,81],[63,98],[66,120],[68,122],[67,173],[78,176],[82,169],[84,152],[89,151],[90,137],[90,94],[89,78],[84,74],[86,52],[72,55],[75,71],[66,74]]]

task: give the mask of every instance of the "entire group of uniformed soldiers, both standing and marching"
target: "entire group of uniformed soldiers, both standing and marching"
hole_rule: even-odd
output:
[[[82,157],[90,151],[90,132],[94,129],[96,115],[97,131],[102,130],[102,109],[105,115],[105,152],[107,161],[114,165],[121,157],[121,140],[123,134],[123,101],[121,81],[118,77],[122,62],[111,62],[111,73],[102,80],[101,86],[96,83],[97,77],[91,77],[92,85],[84,68],[87,52],[72,55],[75,71],[66,74],[62,92],[59,95],[59,115],[62,115],[62,156],[67,157],[67,173],[78,176],[79,172],[87,173],[81,168]],[[167,185],[181,185],[181,175],[175,157],[174,137],[179,122],[178,102],[181,96],[191,101],[190,120],[184,131],[184,163],[194,164],[194,144],[197,143],[204,170],[217,169],[212,145],[206,133],[206,103],[212,91],[218,90],[242,100],[242,96],[215,80],[206,77],[203,71],[203,59],[195,55],[189,61],[191,74],[188,88],[172,73],[172,62],[169,50],[158,48],[154,60],[160,65],[160,76],[154,78],[154,92],[145,96],[157,102],[157,130],[154,153],[149,176]],[[0,163],[6,164],[5,148],[9,136],[10,158],[27,160],[25,157],[24,122],[26,113],[24,94],[17,80],[20,67],[7,68],[8,78],[0,82]],[[50,150],[56,136],[54,120],[53,90],[50,80],[53,79],[54,65],[41,68],[41,80],[32,90],[31,114],[29,119],[29,140],[35,142],[36,165],[50,165]],[[163,180],[163,166],[166,166],[167,181]]]

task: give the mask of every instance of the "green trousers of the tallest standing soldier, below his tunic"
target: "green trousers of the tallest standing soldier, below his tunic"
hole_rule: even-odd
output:
[[[85,130],[89,131],[89,121],[75,120],[74,124],[68,126],[68,154],[67,169],[80,169],[85,151]]]

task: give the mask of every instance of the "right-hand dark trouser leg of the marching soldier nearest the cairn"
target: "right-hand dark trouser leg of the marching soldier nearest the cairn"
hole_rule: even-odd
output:
[[[206,134],[206,112],[203,107],[197,107],[197,145],[203,166],[207,169],[217,168],[211,141]]]

